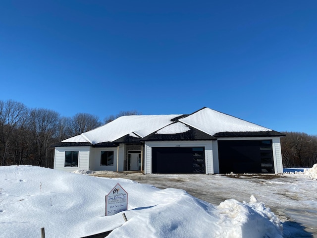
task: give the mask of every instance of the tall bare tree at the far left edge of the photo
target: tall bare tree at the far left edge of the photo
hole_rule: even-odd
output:
[[[12,132],[22,125],[28,110],[23,103],[12,100],[0,101],[0,142],[2,146],[1,165],[5,165],[6,154],[11,142]]]

